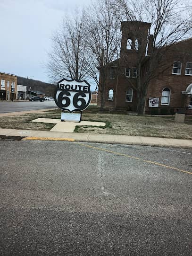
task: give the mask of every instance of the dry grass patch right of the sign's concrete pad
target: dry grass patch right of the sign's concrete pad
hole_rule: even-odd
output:
[[[192,117],[186,117],[185,124],[175,123],[174,119],[174,116],[83,114],[83,121],[108,121],[111,126],[105,129],[101,127],[78,126],[78,132],[192,139]]]

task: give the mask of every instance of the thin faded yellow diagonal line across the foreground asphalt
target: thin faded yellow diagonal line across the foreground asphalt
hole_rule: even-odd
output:
[[[165,168],[168,168],[168,169],[173,169],[173,170],[176,170],[176,171],[180,171],[180,172],[184,172],[184,173],[192,175],[192,172],[185,171],[183,169],[175,168],[175,167],[172,167],[172,166],[167,166],[167,165],[164,165],[164,164],[160,164],[158,162],[153,162],[153,161],[150,161],[150,160],[144,160],[144,159],[141,159],[141,158],[137,158],[137,157],[129,156],[129,155],[126,155],[126,154],[122,154],[122,153],[118,153],[118,152],[114,152],[114,151],[110,151],[110,150],[106,150],[106,149],[102,149],[102,148],[86,145],[86,144],[79,143],[79,142],[75,142],[75,143],[79,144],[79,145],[82,145],[84,147],[87,147],[87,148],[92,148],[92,149],[95,149],[95,150],[105,151],[105,152],[108,152],[108,153],[112,153],[114,155],[123,156],[123,157],[127,157],[127,158],[132,158],[132,159],[136,159],[136,160],[140,160],[140,161],[145,162],[145,163],[162,166],[162,167],[165,167]]]

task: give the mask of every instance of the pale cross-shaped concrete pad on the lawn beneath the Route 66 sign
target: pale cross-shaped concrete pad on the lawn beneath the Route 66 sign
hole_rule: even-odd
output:
[[[67,122],[67,121],[61,122],[59,119],[53,119],[53,118],[37,118],[32,120],[31,122],[56,124],[50,130],[50,132],[73,132],[76,125],[105,126],[105,123],[103,122],[89,122],[89,121],[81,121],[80,123]]]

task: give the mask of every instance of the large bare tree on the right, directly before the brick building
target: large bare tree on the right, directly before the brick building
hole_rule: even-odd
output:
[[[192,16],[182,0],[117,0],[114,9],[117,10],[116,14],[121,21],[142,21],[151,24],[148,34],[151,47],[148,49],[148,56],[146,47],[136,51],[136,86],[131,79],[127,79],[127,83],[132,83],[137,90],[137,112],[143,114],[149,83],[157,78],[159,72],[167,70],[168,65],[163,61],[171,47],[192,35]],[[142,34],[140,37],[142,38]],[[124,63],[129,62],[125,55],[122,55],[121,59]],[[141,74],[143,62],[147,66],[144,75]],[[156,72],[158,68],[159,72]]]

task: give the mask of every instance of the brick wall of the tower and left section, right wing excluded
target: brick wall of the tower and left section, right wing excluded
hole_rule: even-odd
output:
[[[121,52],[120,59],[116,62],[117,74],[114,79],[111,79],[108,73],[105,90],[105,106],[107,108],[125,109],[136,111],[137,93],[136,93],[136,79],[132,78],[133,68],[137,66],[138,60],[145,56],[148,29],[150,23],[145,22],[122,22],[121,31]],[[141,36],[142,35],[142,36]],[[131,49],[127,49],[127,40],[132,42]],[[135,40],[138,40],[139,49],[135,51]],[[130,68],[130,77],[125,77],[125,69]],[[132,102],[126,101],[126,92],[129,88],[133,89]],[[113,89],[113,100],[109,100],[109,90]],[[98,98],[98,105],[100,106],[100,92]]]

